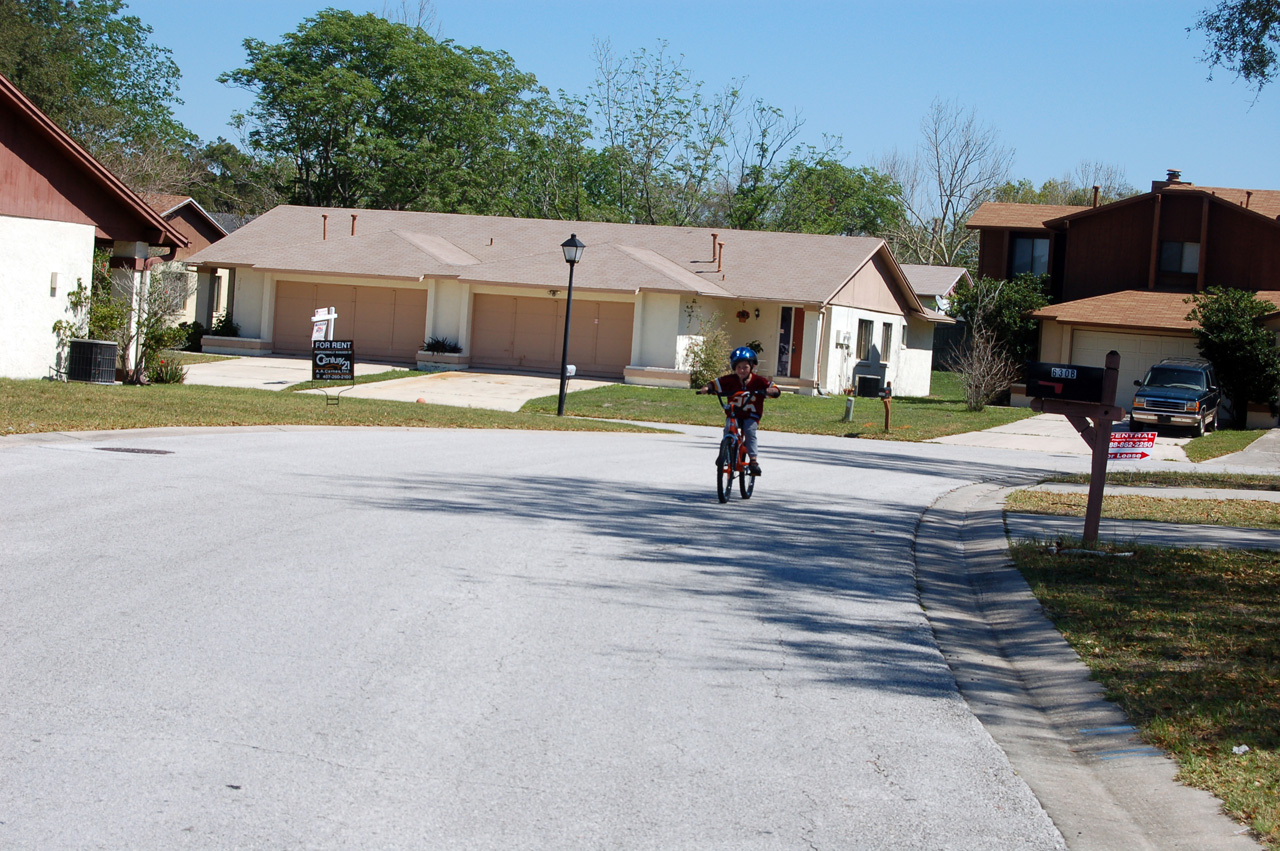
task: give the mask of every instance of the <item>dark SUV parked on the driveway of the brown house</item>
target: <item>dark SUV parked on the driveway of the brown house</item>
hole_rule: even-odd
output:
[[[1217,427],[1222,399],[1213,365],[1201,358],[1166,357],[1133,383],[1138,392],[1129,412],[1129,427],[1183,426],[1199,436]]]

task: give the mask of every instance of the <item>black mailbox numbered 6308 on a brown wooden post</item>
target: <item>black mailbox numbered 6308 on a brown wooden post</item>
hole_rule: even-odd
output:
[[[1102,491],[1107,484],[1107,458],[1111,456],[1111,427],[1124,420],[1116,404],[1120,353],[1107,352],[1106,367],[1071,363],[1027,365],[1027,395],[1032,411],[1061,413],[1093,449],[1089,467],[1089,499],[1084,509],[1084,543],[1098,540],[1102,521]]]

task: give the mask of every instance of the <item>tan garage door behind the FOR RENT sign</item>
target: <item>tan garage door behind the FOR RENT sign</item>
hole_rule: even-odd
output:
[[[357,358],[417,360],[426,328],[425,289],[278,282],[271,351],[310,354],[311,315],[317,307],[338,311],[334,339],[355,340]]]

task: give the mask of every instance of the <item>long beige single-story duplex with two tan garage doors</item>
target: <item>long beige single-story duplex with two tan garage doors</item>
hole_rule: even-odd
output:
[[[800,393],[929,390],[950,320],[883,239],[710,228],[280,206],[189,258],[234,270],[241,337],[205,348],[307,354],[314,311],[334,307],[361,360],[558,372],[571,233],[579,375],[687,386],[686,349],[718,324]]]

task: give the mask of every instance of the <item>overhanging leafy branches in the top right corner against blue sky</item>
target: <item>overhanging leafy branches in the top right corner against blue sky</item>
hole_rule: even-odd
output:
[[[1208,36],[1203,61],[1243,77],[1256,91],[1275,79],[1280,45],[1280,3],[1276,0],[1220,0],[1201,13],[1196,29]],[[1189,32],[1189,29],[1188,29]]]

